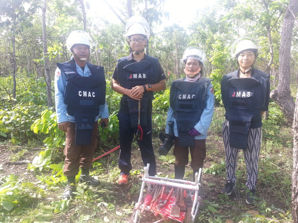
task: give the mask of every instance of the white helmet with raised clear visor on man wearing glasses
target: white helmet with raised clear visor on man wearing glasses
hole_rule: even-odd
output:
[[[149,23],[140,15],[131,16],[125,25],[125,37],[127,38],[134,34],[142,34],[148,39],[150,37]]]

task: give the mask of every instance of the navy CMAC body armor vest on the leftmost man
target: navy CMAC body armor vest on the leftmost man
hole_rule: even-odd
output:
[[[77,73],[74,59],[57,66],[66,75],[64,103],[67,113],[75,117],[75,145],[90,145],[99,106],[105,104],[104,69],[87,63],[91,76],[83,77]]]

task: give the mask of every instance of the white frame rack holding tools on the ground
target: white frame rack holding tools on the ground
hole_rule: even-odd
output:
[[[191,209],[192,221],[194,221],[195,216],[198,213],[198,207],[200,205],[200,202],[198,201],[198,193],[199,193],[200,186],[201,186],[201,183],[199,183],[199,182],[200,182],[200,178],[201,178],[202,169],[200,168],[199,172],[195,173],[195,182],[189,182],[189,181],[187,182],[186,180],[177,180],[177,179],[169,179],[169,178],[164,178],[164,177],[149,176],[149,174],[148,174],[149,166],[150,166],[150,164],[147,164],[147,167],[144,167],[145,174],[144,174],[144,177],[142,178],[143,182],[142,182],[142,186],[141,186],[141,192],[140,192],[139,200],[135,204],[135,207],[139,204],[139,202],[142,201],[145,183],[148,186],[148,190],[151,190],[151,184],[166,185],[166,186],[172,186],[172,187],[177,187],[177,188],[182,188],[182,189],[194,190],[195,198],[193,201],[193,207]],[[186,184],[186,182],[187,182],[187,184]],[[140,209],[142,209],[143,206],[144,206],[144,204],[141,205],[138,210],[136,210],[135,216],[134,216],[134,223],[137,222],[139,213],[140,213]],[[150,206],[146,206],[145,210],[149,211],[149,208],[150,208]]]

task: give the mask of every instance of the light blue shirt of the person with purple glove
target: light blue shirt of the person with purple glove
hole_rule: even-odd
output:
[[[184,81],[187,81],[186,78]],[[213,94],[213,87],[212,84],[207,87],[207,94],[206,94],[206,107],[203,110],[203,113],[201,115],[200,121],[194,126],[194,128],[201,133],[199,136],[195,136],[195,139],[206,139],[207,138],[207,131],[208,128],[212,122],[212,116],[214,111],[214,94]],[[178,130],[177,130],[177,124],[176,124],[176,118],[173,117],[173,109],[169,108],[168,114],[167,114],[167,123],[168,121],[174,121],[174,134],[178,137]],[[166,123],[166,134],[169,134],[169,125]]]

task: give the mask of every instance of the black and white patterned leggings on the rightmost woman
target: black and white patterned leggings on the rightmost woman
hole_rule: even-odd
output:
[[[227,125],[228,120],[223,122],[222,134],[224,140],[224,147],[226,152],[226,180],[236,182],[236,167],[237,167],[237,156],[238,149],[230,147],[229,143],[229,126]],[[255,185],[258,178],[258,167],[259,167],[259,155],[262,142],[262,130],[261,128],[250,128],[247,139],[247,149],[243,150],[246,171],[247,171],[247,182],[246,187],[250,190],[255,189]]]

